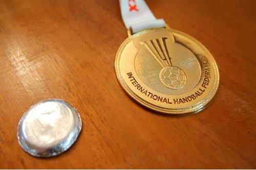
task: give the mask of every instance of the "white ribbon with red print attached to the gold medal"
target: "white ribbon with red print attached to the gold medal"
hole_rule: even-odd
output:
[[[126,29],[132,33],[165,27],[163,19],[156,19],[144,0],[119,0],[121,15]]]

